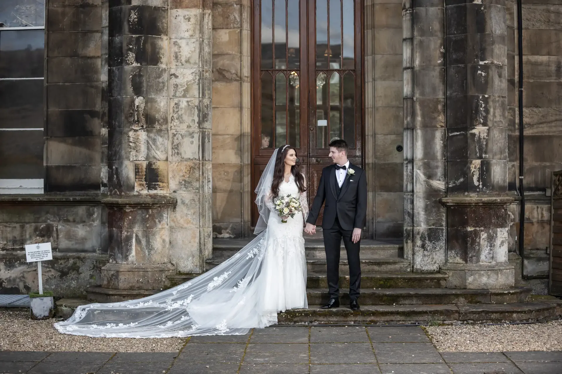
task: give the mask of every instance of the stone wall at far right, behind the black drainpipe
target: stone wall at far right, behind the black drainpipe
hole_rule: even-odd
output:
[[[515,6],[515,4],[514,4]],[[519,66],[514,10],[514,67],[510,69],[509,190],[519,188]],[[547,293],[551,172],[562,169],[562,2],[523,1],[523,124],[525,234],[523,281]],[[510,35],[511,37],[511,35]],[[513,84],[511,83],[513,75]],[[513,113],[513,114],[511,114]],[[510,207],[510,251],[519,235],[519,202]]]

